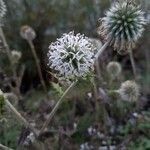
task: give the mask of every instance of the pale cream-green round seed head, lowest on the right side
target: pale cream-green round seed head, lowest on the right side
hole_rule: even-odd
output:
[[[122,100],[130,102],[137,101],[140,94],[139,86],[130,80],[123,82],[118,92]]]

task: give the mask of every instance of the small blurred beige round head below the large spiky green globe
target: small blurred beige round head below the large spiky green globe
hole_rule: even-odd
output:
[[[106,70],[112,79],[118,77],[122,71],[121,65],[118,62],[111,61],[108,63]]]

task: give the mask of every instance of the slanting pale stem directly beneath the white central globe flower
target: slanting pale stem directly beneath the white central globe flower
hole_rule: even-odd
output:
[[[72,87],[75,86],[75,84],[77,83],[77,81],[73,82],[64,92],[64,94],[61,96],[61,98],[58,100],[58,102],[56,103],[55,107],[53,108],[53,110],[51,111],[51,113],[48,116],[48,119],[45,121],[43,127],[40,130],[40,133],[42,133],[45,128],[47,128],[48,124],[50,123],[51,119],[53,118],[53,116],[55,115],[56,111],[58,110],[62,100],[64,99],[64,97],[69,93],[69,91],[71,90]],[[39,135],[40,135],[39,133]]]

